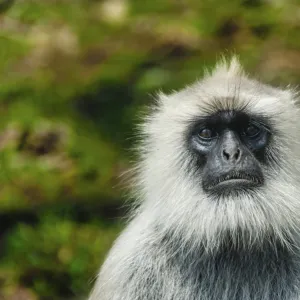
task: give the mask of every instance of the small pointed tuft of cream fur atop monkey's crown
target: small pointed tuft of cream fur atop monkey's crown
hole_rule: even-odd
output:
[[[216,77],[237,77],[241,75],[244,75],[244,70],[236,55],[232,56],[230,60],[223,56],[211,73],[211,76]]]

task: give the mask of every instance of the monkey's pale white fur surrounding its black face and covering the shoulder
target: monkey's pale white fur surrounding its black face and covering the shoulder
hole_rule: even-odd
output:
[[[144,269],[140,276],[147,272],[147,262],[153,253],[147,253],[145,245],[154,245],[159,234],[170,228],[174,236],[180,237],[183,247],[192,241],[189,244],[192,248],[204,245],[207,253],[219,249],[228,231],[234,243],[241,243],[248,249],[274,234],[288,247],[294,246],[291,241],[297,244],[300,112],[295,106],[296,100],[293,90],[281,90],[249,79],[236,58],[229,63],[222,60],[212,73],[207,73],[192,86],[168,96],[160,94],[157,106],[141,127],[144,141],[136,182],[139,208],[111,250],[90,300],[140,300],[142,298],[136,295],[155,295],[147,291],[147,282],[145,290],[139,287],[138,292],[134,291],[134,282],[128,279],[128,268],[140,264]],[[265,167],[265,185],[254,196],[245,194],[243,198],[212,201],[202,191],[200,178],[186,172],[189,154],[185,138],[191,121],[223,109],[243,109],[268,116],[275,130],[272,143],[277,146],[278,160],[284,164],[280,170]],[[160,231],[155,232],[155,226],[159,226]],[[247,236],[241,239],[238,228]],[[178,288],[180,272],[162,271],[168,270],[168,255],[175,255],[175,252],[157,251],[155,255],[161,258],[151,272],[153,278],[162,275],[158,285],[163,291],[162,300],[196,299],[188,284]],[[204,291],[201,295],[201,300],[214,299],[205,296]],[[245,293],[244,299],[247,297]],[[149,299],[160,298],[149,296]],[[224,299],[229,300],[225,296]],[[264,299],[271,300],[267,296]]]

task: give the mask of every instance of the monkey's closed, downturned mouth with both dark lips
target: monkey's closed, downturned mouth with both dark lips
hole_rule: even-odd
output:
[[[263,177],[258,174],[232,172],[217,177],[203,187],[206,191],[222,193],[230,190],[246,190],[262,184]]]

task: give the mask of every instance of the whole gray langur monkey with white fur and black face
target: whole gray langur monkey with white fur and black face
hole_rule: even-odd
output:
[[[90,300],[299,300],[294,90],[221,61],[142,125],[139,205]]]

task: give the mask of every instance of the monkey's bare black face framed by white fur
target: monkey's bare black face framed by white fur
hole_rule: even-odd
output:
[[[266,119],[243,112],[221,111],[197,121],[189,143],[203,190],[220,196],[262,186],[270,136]]]

